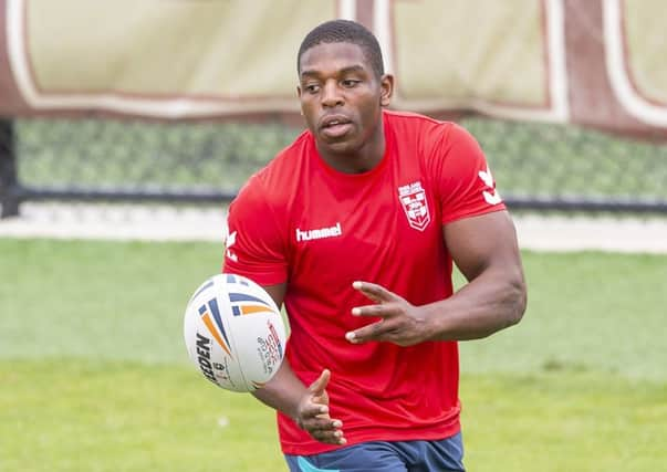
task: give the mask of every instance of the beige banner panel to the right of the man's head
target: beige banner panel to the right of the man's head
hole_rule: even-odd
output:
[[[394,11],[395,71],[406,101],[546,101],[540,2],[402,1]]]

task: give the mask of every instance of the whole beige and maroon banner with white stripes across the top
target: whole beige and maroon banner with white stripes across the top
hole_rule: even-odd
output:
[[[395,108],[667,130],[664,0],[0,0],[0,114],[296,115],[299,44],[342,15]]]

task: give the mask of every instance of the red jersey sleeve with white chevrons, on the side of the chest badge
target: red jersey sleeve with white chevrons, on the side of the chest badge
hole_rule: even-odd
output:
[[[506,209],[484,154],[470,133],[451,124],[436,153],[442,224]]]

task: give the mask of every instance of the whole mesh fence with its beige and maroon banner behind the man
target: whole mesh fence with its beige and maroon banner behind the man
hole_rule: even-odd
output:
[[[377,34],[395,109],[473,133],[512,209],[667,211],[659,1],[256,3],[0,3],[2,216],[229,201],[302,129],[295,51],[334,17]]]

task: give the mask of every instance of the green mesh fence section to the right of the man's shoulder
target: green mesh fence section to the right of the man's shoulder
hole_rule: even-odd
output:
[[[574,126],[491,119],[462,125],[479,139],[507,195],[667,202],[667,143]]]

